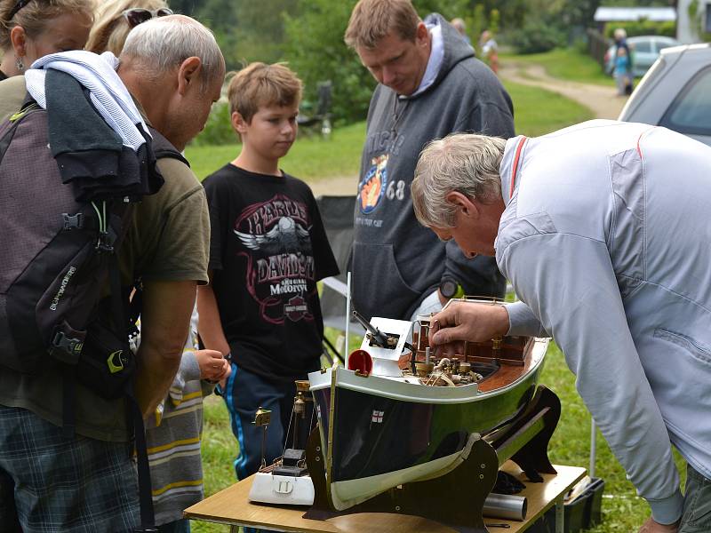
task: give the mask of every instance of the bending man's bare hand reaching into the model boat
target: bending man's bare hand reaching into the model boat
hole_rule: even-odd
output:
[[[440,354],[463,354],[466,341],[506,335],[508,328],[504,306],[451,301],[430,319],[429,346],[438,348]]]

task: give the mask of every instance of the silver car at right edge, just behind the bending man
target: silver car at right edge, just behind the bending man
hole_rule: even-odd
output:
[[[711,44],[662,51],[619,120],[664,126],[711,146]]]

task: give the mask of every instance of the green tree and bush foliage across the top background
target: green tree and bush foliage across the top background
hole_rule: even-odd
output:
[[[331,80],[337,122],[362,120],[375,82],[343,33],[356,0],[171,0],[172,8],[212,28],[228,69],[251,61],[286,61],[316,102],[318,82]],[[439,12],[461,17],[476,43],[484,28],[539,52],[566,44],[571,28],[593,25],[601,4],[674,5],[674,0],[413,0],[421,17]],[[499,39],[500,41],[501,39]]]

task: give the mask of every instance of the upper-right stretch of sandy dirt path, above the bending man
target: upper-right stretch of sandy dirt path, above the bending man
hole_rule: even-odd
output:
[[[614,87],[560,80],[548,76],[546,69],[539,65],[504,63],[499,76],[516,84],[557,92],[590,109],[596,118],[616,119],[625,105],[626,99],[616,96]]]

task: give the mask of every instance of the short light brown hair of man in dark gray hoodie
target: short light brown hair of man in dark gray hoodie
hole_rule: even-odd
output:
[[[419,15],[411,0],[360,0],[350,14],[343,40],[351,48],[373,49],[391,31],[415,42]]]

